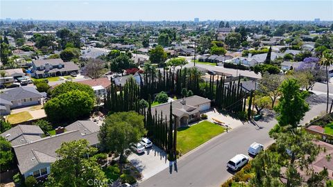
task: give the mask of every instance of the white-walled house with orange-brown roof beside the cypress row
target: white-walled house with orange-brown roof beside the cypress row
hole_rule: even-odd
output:
[[[107,89],[111,86],[111,81],[108,78],[96,78],[92,80],[78,81],[80,84],[87,84],[94,89],[95,96],[103,97]]]

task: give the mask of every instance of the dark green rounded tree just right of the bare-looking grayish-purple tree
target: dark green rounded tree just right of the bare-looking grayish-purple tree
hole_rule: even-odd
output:
[[[136,65],[134,64],[133,60],[131,60],[128,55],[123,53],[111,60],[110,64],[110,70],[113,72],[121,73],[121,75],[123,75],[123,71],[125,69],[134,67],[136,67]]]

